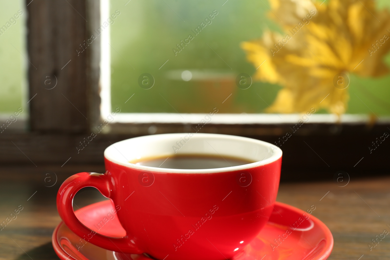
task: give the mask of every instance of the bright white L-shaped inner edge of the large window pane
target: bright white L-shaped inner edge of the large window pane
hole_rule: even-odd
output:
[[[110,15],[110,0],[100,0],[101,21]],[[111,48],[110,27],[101,34],[101,119],[106,119],[111,111]],[[124,124],[199,124],[206,113],[118,113],[113,123]],[[296,124],[303,114],[247,114],[215,113],[208,124]],[[370,115],[344,114],[339,118],[333,114],[312,114],[309,124],[369,123]],[[389,123],[390,117],[382,117],[379,123]]]

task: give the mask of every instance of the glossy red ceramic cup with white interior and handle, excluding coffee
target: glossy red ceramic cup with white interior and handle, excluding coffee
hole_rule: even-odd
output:
[[[129,163],[175,152],[255,163],[202,170]],[[184,133],[120,141],[110,145],[104,157],[106,173],[77,173],[58,191],[58,213],[74,233],[105,249],[147,253],[160,260],[222,260],[239,253],[268,221],[278,192],[282,151],[250,138]],[[88,186],[119,209],[113,213],[125,237],[100,235],[76,218],[73,197]]]

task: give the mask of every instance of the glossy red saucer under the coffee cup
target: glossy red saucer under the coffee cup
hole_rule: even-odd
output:
[[[99,230],[102,235],[123,237],[125,231],[117,216],[111,214],[113,208],[111,200],[105,200],[83,207],[75,214],[85,226]],[[274,209],[259,235],[232,260],[324,260],[329,257],[333,236],[324,223],[284,203],[276,202]],[[96,226],[102,219],[106,222]],[[63,222],[55,228],[52,243],[62,260],[150,260],[146,255],[113,252],[85,242]]]

